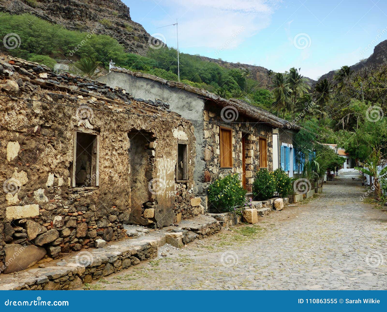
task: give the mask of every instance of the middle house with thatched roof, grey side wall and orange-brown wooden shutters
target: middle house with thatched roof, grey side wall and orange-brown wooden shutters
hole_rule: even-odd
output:
[[[208,211],[209,183],[238,173],[247,192],[252,192],[257,170],[273,170],[273,129],[299,129],[242,100],[226,100],[154,75],[111,66],[111,72],[98,80],[125,89],[135,98],[163,99],[171,110],[192,122],[196,138],[195,193],[202,198],[203,211]]]

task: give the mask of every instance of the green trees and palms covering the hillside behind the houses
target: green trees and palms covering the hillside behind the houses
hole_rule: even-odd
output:
[[[100,22],[106,24],[106,21]],[[144,57],[126,53],[116,39],[106,35],[69,31],[28,14],[3,13],[0,36],[3,38],[9,33],[16,33],[21,45],[12,50],[3,48],[3,51],[50,68],[55,58],[71,58],[77,61],[74,66],[77,70],[93,77],[94,69],[107,68],[111,59],[126,69],[178,80],[173,48],[150,48]],[[384,66],[355,74],[343,66],[334,81],[324,79],[312,88],[300,69],[292,67],[285,73],[268,71],[271,79],[268,90],[250,78],[249,69],[226,69],[205,62],[198,55],[180,54],[181,82],[224,98],[243,99],[298,123],[303,130],[297,135],[297,144],[305,150],[316,149],[318,142],[337,143],[361,161],[375,151],[381,151],[380,157],[387,156],[386,119],[373,122],[367,118],[372,106],[387,109],[386,72],[387,66]]]

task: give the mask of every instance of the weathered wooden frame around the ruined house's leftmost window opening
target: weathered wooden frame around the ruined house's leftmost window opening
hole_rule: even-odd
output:
[[[82,127],[74,127],[74,145],[73,145],[73,162],[72,162],[72,168],[71,168],[71,186],[75,187],[75,171],[77,170],[77,133],[85,133],[85,134],[92,134],[96,136],[96,139],[94,139],[93,146],[92,146],[92,159],[91,159],[91,187],[98,187],[99,186],[99,132],[96,132],[91,129],[82,128]],[[93,166],[95,167],[95,178],[93,178]]]

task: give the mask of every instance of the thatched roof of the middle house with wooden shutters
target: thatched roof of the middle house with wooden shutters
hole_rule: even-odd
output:
[[[125,74],[132,75],[134,77],[150,79],[153,81],[157,81],[161,84],[165,84],[168,87],[175,87],[191,93],[199,94],[200,96],[203,96],[205,99],[209,99],[221,107],[233,106],[238,110],[240,114],[245,115],[248,118],[252,118],[257,122],[267,123],[268,125],[271,125],[274,128],[288,128],[296,131],[301,129],[301,127],[296,125],[295,123],[291,123],[287,120],[279,118],[273,115],[272,113],[269,113],[266,110],[250,105],[249,103],[240,99],[229,99],[229,100],[224,99],[217,94],[211,93],[204,89],[199,89],[196,87],[189,86],[187,84],[183,84],[182,82],[168,81],[166,79],[162,79],[154,75],[144,74],[142,72],[132,72],[131,70],[124,69],[121,67],[112,66],[111,70],[115,72],[123,72]]]

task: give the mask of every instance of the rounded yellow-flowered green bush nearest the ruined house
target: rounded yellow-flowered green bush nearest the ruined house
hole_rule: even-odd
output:
[[[219,210],[234,211],[245,203],[246,190],[243,189],[238,174],[217,179],[207,189],[208,199]]]

